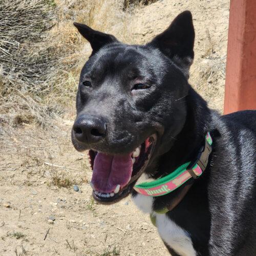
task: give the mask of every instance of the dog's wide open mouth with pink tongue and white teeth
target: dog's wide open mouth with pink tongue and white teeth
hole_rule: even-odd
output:
[[[127,196],[143,173],[152,155],[156,134],[148,137],[132,153],[108,155],[89,151],[93,169],[93,197],[101,203],[113,203]]]

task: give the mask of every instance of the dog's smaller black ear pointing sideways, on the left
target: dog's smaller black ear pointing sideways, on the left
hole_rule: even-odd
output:
[[[118,42],[115,36],[93,30],[84,24],[75,22],[74,26],[78,29],[79,33],[90,42],[93,49],[92,55],[104,45],[110,44],[111,42]]]

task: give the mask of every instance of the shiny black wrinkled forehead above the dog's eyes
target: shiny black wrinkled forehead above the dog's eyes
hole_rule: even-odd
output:
[[[93,78],[122,75],[130,79],[137,77],[150,79],[157,75],[152,54],[154,54],[153,50],[144,46],[112,44],[102,48],[90,58],[84,76]]]

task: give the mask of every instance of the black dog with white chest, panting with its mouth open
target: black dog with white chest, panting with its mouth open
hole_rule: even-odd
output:
[[[143,46],[74,25],[93,49],[81,71],[72,141],[90,150],[95,200],[132,193],[172,255],[256,255],[256,111],[220,116],[189,86],[191,13]],[[186,167],[191,176],[172,193],[134,189],[187,162],[204,172]]]

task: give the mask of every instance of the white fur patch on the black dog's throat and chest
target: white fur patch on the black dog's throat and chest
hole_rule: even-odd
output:
[[[146,177],[142,177],[137,183],[141,183],[142,180],[145,181]],[[133,197],[133,201],[137,207],[146,214],[152,212],[153,200],[153,197],[147,197],[141,194]],[[184,229],[170,220],[165,214],[157,214],[156,212],[153,212],[153,214],[156,216],[158,233],[169,247],[182,256],[196,255],[192,241]]]

